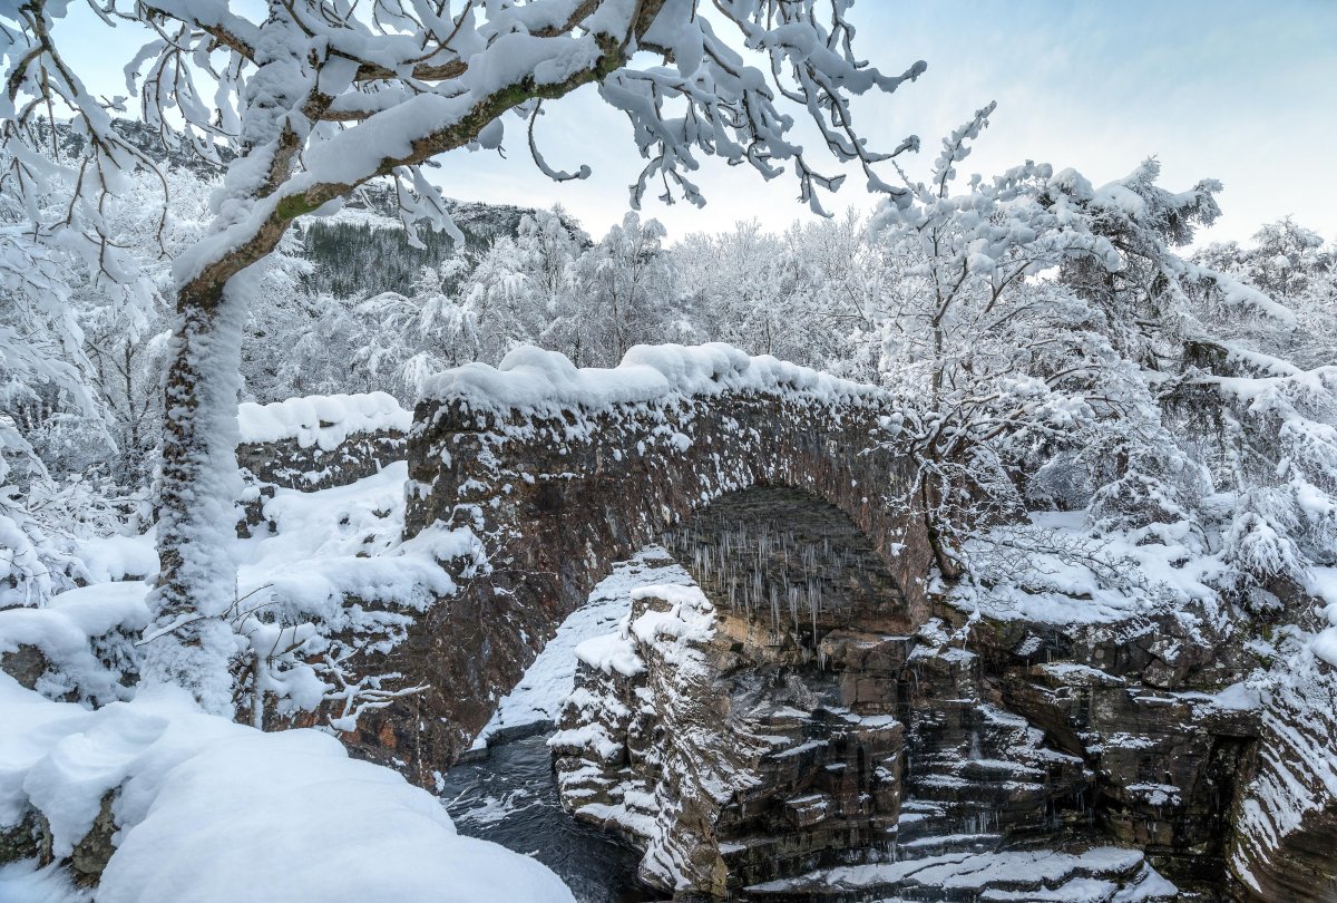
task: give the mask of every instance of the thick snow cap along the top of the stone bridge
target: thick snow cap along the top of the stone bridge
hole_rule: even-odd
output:
[[[722,342],[636,345],[615,368],[576,368],[564,355],[532,345],[516,348],[496,368],[465,364],[431,377],[422,396],[465,399],[495,409],[555,413],[654,401],[671,395],[723,392],[802,393],[822,400],[869,399],[872,385],[777,360],[749,357]]]

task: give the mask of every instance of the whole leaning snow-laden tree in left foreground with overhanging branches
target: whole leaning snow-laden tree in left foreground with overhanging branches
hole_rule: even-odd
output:
[[[247,272],[294,219],[385,178],[410,238],[424,223],[457,234],[424,167],[451,150],[500,147],[507,122],[527,128],[521,140],[548,177],[583,178],[587,167],[543,159],[533,126],[543,102],[590,83],[626,112],[648,161],[632,206],[651,183],[666,199],[702,203],[690,174],[714,155],[765,178],[787,169],[820,211],[818,190],[844,177],[813,167],[786,108],[806,112],[828,159],[861,169],[873,191],[894,191],[876,165],[916,146],[874,153],[854,128],[853,95],[892,92],[925,67],[886,75],[857,59],[852,0],[270,0],[255,16],[226,0],[87,3],[95,25],[144,29],[148,43],[124,68],[143,123],[226,163],[205,238],[174,264],[152,627],[170,642],[155,642],[144,666],[214,710],[231,709],[238,649],[227,547]],[[21,198],[67,185],[55,215],[29,205],[32,234],[118,278],[104,202],[154,163],[114,120],[124,99],[94,96],[78,72],[90,60],[63,52],[68,7],[0,3],[4,178]],[[72,155],[44,153],[55,122],[68,122]]]

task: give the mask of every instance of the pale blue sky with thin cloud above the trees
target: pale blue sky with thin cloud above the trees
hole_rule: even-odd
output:
[[[996,100],[989,128],[959,166],[963,175],[1034,159],[1075,167],[1099,185],[1154,155],[1167,189],[1203,178],[1225,185],[1225,213],[1197,243],[1246,241],[1286,215],[1337,238],[1337,179],[1325,171],[1337,148],[1337,0],[861,0],[850,17],[856,51],[884,71],[928,62],[919,82],[854,106],[876,148],[920,135],[924,150],[902,158],[912,177],[927,178],[940,139]],[[124,92],[119,72],[134,48],[132,35],[108,39],[87,23],[66,43],[68,59],[104,92]],[[560,203],[598,237],[628,210],[627,186],[643,166],[631,127],[592,86],[544,110],[536,135],[550,165],[588,163],[591,178],[558,185],[541,175],[513,116],[504,158],[455,151],[433,178],[460,199]],[[825,163],[814,132],[798,135]],[[787,171],[767,182],[707,158],[693,178],[705,209],[666,206],[652,193],[644,201],[643,215],[663,222],[670,239],[739,219],[782,229],[813,218]],[[850,171],[822,202],[838,214],[866,211],[877,198]]]

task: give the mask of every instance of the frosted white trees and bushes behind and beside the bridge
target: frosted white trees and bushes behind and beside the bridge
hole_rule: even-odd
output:
[[[178,210],[207,210],[207,181],[171,178]],[[1337,249],[1284,221],[1187,253],[1219,186],[1158,181],[1154,162],[1100,187],[1034,163],[960,181],[948,157],[866,218],[677,243],[636,214],[592,239],[560,210],[460,205],[463,245],[412,247],[372,205],[303,223],[247,280],[245,397],[412,403],[427,376],[521,344],[612,367],[640,342],[726,341],[886,387],[944,574],[1000,571],[1027,543],[981,544],[985,527],[1058,510],[1197,536],[1223,590],[1300,586],[1337,563]],[[111,214],[138,294],[3,233],[0,499],[29,539],[13,587],[68,571],[60,536],[151,515],[168,262],[203,227],[159,227],[135,199],[151,190]]]

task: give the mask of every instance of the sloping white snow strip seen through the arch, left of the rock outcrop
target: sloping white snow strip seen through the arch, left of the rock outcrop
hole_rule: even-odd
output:
[[[527,728],[551,726],[562,704],[575,689],[576,646],[611,633],[631,610],[632,590],[656,585],[691,585],[691,575],[663,548],[650,546],[634,558],[614,566],[584,607],[576,610],[558,627],[539,657],[520,678],[519,685],[497,706],[496,714],[473,741],[480,750],[488,742],[524,733]]]

